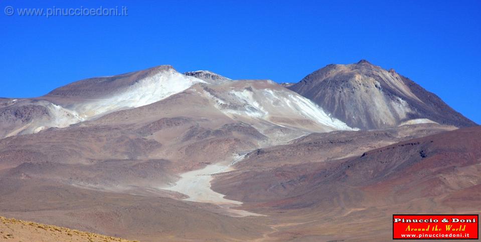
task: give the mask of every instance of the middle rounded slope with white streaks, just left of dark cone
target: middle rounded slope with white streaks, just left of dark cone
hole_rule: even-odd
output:
[[[237,80],[197,85],[196,92],[234,120],[316,132],[353,130],[310,100],[270,80]]]

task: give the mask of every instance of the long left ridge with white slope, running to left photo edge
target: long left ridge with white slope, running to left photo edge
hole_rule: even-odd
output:
[[[0,137],[64,128],[123,109],[157,102],[204,81],[172,66],[90,78],[33,99],[0,100]]]

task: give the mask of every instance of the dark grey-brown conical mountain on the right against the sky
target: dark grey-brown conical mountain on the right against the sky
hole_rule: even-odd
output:
[[[476,125],[415,82],[366,60],[328,65],[287,88],[360,129],[423,122],[457,127]]]

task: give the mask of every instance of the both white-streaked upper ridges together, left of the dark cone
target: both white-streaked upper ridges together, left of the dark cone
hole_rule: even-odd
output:
[[[172,66],[158,66],[77,81],[38,98],[3,99],[0,137],[64,128],[152,104],[191,87],[198,91],[196,95],[211,99],[211,105],[231,117],[246,115],[258,121],[317,131],[351,129],[308,99],[272,81],[232,81],[207,71],[183,75]]]

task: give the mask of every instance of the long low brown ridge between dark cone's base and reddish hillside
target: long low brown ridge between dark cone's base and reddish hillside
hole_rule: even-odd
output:
[[[402,140],[456,129],[435,124],[405,125],[372,131],[312,133],[288,144],[254,150],[236,164],[240,169],[272,168],[300,163],[323,162],[380,148]]]

